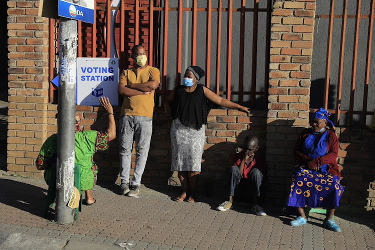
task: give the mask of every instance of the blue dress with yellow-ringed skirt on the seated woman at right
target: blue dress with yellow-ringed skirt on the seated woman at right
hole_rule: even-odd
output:
[[[322,134],[310,133],[302,144],[302,153],[311,158],[324,155],[326,136],[327,130]],[[328,174],[326,164],[320,165],[318,171],[298,164],[293,169],[285,206],[337,207],[343,190],[339,177]]]

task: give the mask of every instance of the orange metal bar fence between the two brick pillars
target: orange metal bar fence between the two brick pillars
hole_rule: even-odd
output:
[[[148,52],[148,62],[152,66],[158,66],[158,61],[161,59],[161,87],[156,90],[156,93],[161,94],[161,101],[165,95],[171,90],[167,89],[166,76],[167,76],[167,51],[168,51],[168,17],[170,12],[177,13],[177,49],[176,49],[176,72],[175,72],[175,84],[180,84],[181,77],[181,29],[182,29],[182,15],[184,12],[191,12],[191,64],[196,62],[196,28],[197,22],[202,24],[205,22],[204,28],[206,33],[205,41],[205,85],[211,86],[217,94],[225,95],[227,99],[231,99],[232,95],[238,95],[237,100],[239,103],[243,102],[243,96],[250,96],[250,102],[247,104],[250,107],[255,107],[256,95],[263,96],[263,103],[261,108],[267,107],[267,89],[268,89],[268,71],[269,71],[269,30],[270,30],[270,15],[271,15],[271,2],[272,0],[266,1],[266,6],[259,7],[259,0],[240,0],[239,7],[233,7],[233,0],[228,0],[227,6],[223,6],[222,0],[218,0],[217,7],[212,7],[212,0],[206,0],[205,7],[198,7],[197,0],[189,0],[192,3],[192,7],[183,7],[182,3],[187,0],[178,0],[177,7],[169,7],[169,0],[154,1],[154,0],[120,0],[119,6],[110,7],[111,0],[96,0],[96,18],[95,23],[87,24],[78,21],[78,56],[86,57],[108,57],[110,54],[111,39],[115,40],[117,56],[119,57],[120,70],[127,68],[132,64],[129,60],[130,48],[135,44],[141,44],[145,47]],[[238,0],[239,1],[239,0]],[[235,1],[237,4],[238,1]],[[250,2],[250,3],[249,3]],[[110,35],[110,11],[117,10],[117,15],[114,24],[114,37]],[[204,11],[206,14],[205,20],[197,18],[197,12]],[[212,24],[212,12],[216,12],[217,15],[217,34],[216,39],[211,39],[211,26]],[[239,44],[232,43],[232,26],[233,17],[232,14],[235,12],[240,13],[239,23],[235,23],[239,28]],[[226,14],[226,30],[222,30],[222,14]],[[252,26],[245,26],[245,13],[252,13]],[[265,40],[264,54],[259,55],[257,47],[258,44],[258,13],[265,13]],[[162,23],[161,23],[162,18]],[[216,20],[215,20],[216,21]],[[49,22],[49,79],[51,80],[55,74],[54,68],[57,66],[56,52],[57,52],[57,28],[56,20],[51,19]],[[222,40],[223,33],[226,31],[226,40]],[[252,34],[252,42],[250,45],[245,47],[245,33],[250,32]],[[159,35],[162,34],[162,37]],[[162,44],[160,39],[162,38]],[[226,51],[220,51],[222,42],[226,43]],[[210,79],[211,70],[211,58],[210,49],[211,46],[216,46],[216,69],[215,75],[216,80],[212,82]],[[161,47],[162,46],[162,47]],[[239,54],[232,55],[232,46],[239,46]],[[251,49],[251,85],[250,91],[244,91],[244,76],[246,70],[244,70],[244,50],[246,48]],[[224,91],[219,90],[220,81],[220,54],[226,53],[226,86]],[[238,56],[239,68],[238,68],[238,80],[234,83],[231,81],[232,58]],[[259,56],[264,56],[264,64],[258,65],[257,59]],[[160,58],[159,58],[160,57]],[[174,58],[172,58],[174,59]],[[257,81],[257,67],[264,67],[264,80],[262,82]],[[183,69],[182,69],[183,70]],[[170,76],[170,75],[169,75]],[[221,80],[222,81],[222,80]],[[213,87],[213,84],[215,87]],[[238,84],[236,88],[238,91],[231,91],[233,84]],[[262,85],[262,90],[257,91],[256,85]],[[49,88],[49,99],[50,102],[56,101],[53,96],[56,88],[50,83]],[[56,96],[56,95],[55,95]]]

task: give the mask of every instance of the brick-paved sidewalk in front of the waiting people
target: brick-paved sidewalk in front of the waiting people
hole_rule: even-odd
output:
[[[86,249],[84,243],[91,250],[93,245],[142,250],[375,248],[373,212],[356,217],[340,214],[338,208],[335,221],[341,232],[332,232],[321,227],[321,214],[292,227],[280,207],[268,207],[267,216],[250,213],[245,203],[221,212],[215,210],[222,201],[217,197],[172,201],[178,187],[142,185],[134,198],[118,195],[117,184],[103,184],[92,189],[97,202],[83,206],[77,221],[57,224],[52,208],[46,218],[41,216],[47,191],[43,180],[0,174],[0,190],[0,233],[55,239],[65,242],[65,249]]]

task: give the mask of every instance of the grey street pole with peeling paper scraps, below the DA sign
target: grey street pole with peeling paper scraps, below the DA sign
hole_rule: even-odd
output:
[[[77,21],[60,17],[58,48],[58,117],[55,220],[73,221],[67,206],[74,191],[74,113],[77,68]]]

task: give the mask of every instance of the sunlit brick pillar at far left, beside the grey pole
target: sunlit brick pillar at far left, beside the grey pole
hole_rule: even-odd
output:
[[[34,165],[47,136],[48,19],[37,0],[8,0],[7,170],[41,175]]]

